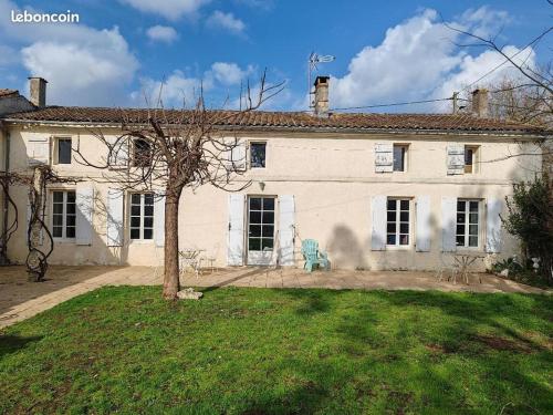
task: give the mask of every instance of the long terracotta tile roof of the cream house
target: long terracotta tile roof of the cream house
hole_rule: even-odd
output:
[[[229,127],[260,127],[290,129],[387,129],[387,131],[467,131],[467,132],[510,132],[510,133],[546,133],[543,128],[478,118],[470,114],[374,114],[374,113],[334,113],[328,117],[317,117],[301,112],[267,112],[255,111],[240,113],[236,111],[211,111],[215,124]],[[168,123],[187,121],[191,112],[167,110]],[[48,106],[35,111],[11,114],[7,120],[29,122],[67,122],[121,124],[145,123],[148,110],[145,108],[107,108]]]

